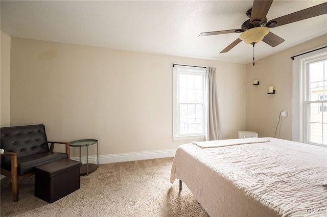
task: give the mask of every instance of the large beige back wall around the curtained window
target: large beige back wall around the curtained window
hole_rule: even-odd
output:
[[[44,123],[50,140],[98,139],[100,155],[174,149],[190,141],[171,138],[173,63],[217,68],[223,138],[237,138],[243,64],[20,38],[11,38],[11,125]]]

